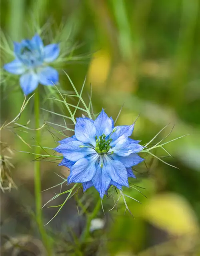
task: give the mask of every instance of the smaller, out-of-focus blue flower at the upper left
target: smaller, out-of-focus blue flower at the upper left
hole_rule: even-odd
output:
[[[31,40],[14,42],[15,60],[5,64],[4,69],[12,74],[22,75],[20,86],[24,94],[33,92],[38,84],[53,85],[58,82],[58,72],[47,66],[58,58],[58,44],[43,45],[42,39],[36,34]]]

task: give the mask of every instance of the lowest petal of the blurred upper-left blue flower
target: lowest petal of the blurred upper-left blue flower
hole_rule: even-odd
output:
[[[38,76],[33,73],[29,72],[20,77],[20,86],[25,95],[33,92],[38,86]]]

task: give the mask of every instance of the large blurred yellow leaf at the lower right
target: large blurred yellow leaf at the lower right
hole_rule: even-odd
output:
[[[170,234],[198,232],[194,211],[190,204],[177,194],[165,193],[154,196],[144,205],[143,216]]]

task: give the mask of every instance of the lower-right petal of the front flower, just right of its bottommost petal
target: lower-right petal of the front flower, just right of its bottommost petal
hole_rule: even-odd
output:
[[[106,166],[108,176],[122,186],[128,186],[128,175],[124,164],[117,160],[110,160]]]

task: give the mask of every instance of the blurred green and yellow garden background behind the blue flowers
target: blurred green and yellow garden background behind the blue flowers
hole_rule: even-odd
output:
[[[179,169],[143,155],[146,165],[136,168],[135,184],[145,188],[141,191],[147,198],[135,190],[126,190],[142,202],[140,205],[127,200],[135,219],[127,212],[123,215],[125,206],[120,201],[118,212],[113,209],[106,218],[102,211],[98,214],[106,226],[92,234],[92,240],[84,249],[58,255],[200,255],[200,1],[1,0],[0,8],[0,24],[8,40],[32,37],[36,32],[34,28],[39,26],[44,28],[41,32],[47,43],[58,35],[60,40],[67,38],[66,47],[78,46],[74,56],[89,56],[69,58],[69,62],[59,67],[60,85],[64,90],[72,90],[63,70],[79,90],[87,75],[84,94],[87,98],[91,83],[96,113],[103,107],[109,116],[116,118],[124,103],[118,125],[132,124],[140,114],[134,138],[142,140],[142,144],[150,141],[166,124],[170,125],[155,143],[164,138],[174,124],[166,141],[190,134],[166,146],[172,157],[164,160]],[[8,62],[7,56],[1,52],[1,66],[5,62]],[[7,80],[4,88],[1,85],[1,123],[14,118],[22,105],[23,95],[16,81],[13,84]],[[45,98],[42,86],[41,93],[41,98]],[[41,104],[48,108],[45,102]],[[56,112],[59,111],[57,108]],[[77,116],[80,114],[77,112]],[[46,118],[42,115],[41,123]],[[20,122],[24,124],[29,119],[33,119],[31,102]],[[49,121],[52,119],[48,116]],[[62,121],[56,119],[56,122]],[[34,144],[30,143],[34,135],[23,136],[29,144]],[[48,142],[48,131],[43,131],[43,138],[48,146],[55,146],[54,140]],[[37,237],[37,232],[32,232],[34,220],[33,224],[29,221],[34,207],[33,158],[15,152],[29,151],[29,148],[9,130],[1,132],[1,141],[14,151],[12,178],[18,186],[18,190],[1,193],[3,245],[8,243],[5,236]],[[161,150],[154,154],[166,156]],[[42,162],[43,188],[56,184],[54,171],[67,175],[65,168]],[[44,193],[44,202],[52,195],[53,192]],[[92,194],[88,194],[86,202],[91,197]],[[108,212],[113,202],[110,199],[103,202]],[[52,216],[48,213],[46,211],[47,220]],[[84,218],[80,220],[73,202],[69,202],[55,218],[52,232],[64,234],[66,238],[64,227],[67,230],[77,220],[84,228]],[[77,239],[71,236],[69,239],[70,245],[76,247]]]

